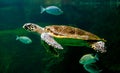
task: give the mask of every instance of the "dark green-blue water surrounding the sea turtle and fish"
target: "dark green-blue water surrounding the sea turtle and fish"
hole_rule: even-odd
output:
[[[40,14],[40,6],[56,5],[59,16]],[[103,73],[120,73],[119,0],[0,0],[0,73],[87,73],[79,59],[95,53],[86,47],[67,47],[59,58],[46,53],[39,35],[22,29],[24,23],[41,26],[71,25],[107,40],[107,52],[99,54]],[[16,35],[29,36],[33,43],[16,41]]]

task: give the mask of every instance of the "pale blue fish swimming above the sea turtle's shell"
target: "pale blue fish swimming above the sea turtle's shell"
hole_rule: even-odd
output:
[[[48,6],[46,8],[41,6],[41,12],[40,13],[42,14],[45,11],[48,14],[52,14],[52,15],[61,15],[63,13],[63,11],[60,8],[56,7],[56,6]]]

